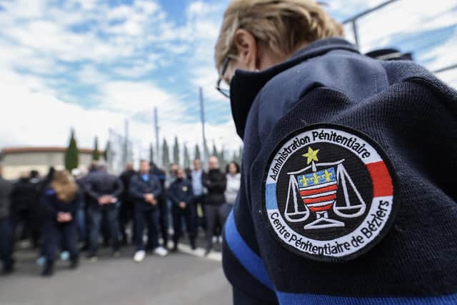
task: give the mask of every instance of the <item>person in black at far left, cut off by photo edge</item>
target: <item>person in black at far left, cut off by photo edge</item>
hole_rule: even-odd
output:
[[[1,177],[0,167],[0,261],[3,263],[2,274],[13,271],[13,239],[9,218],[12,184]]]

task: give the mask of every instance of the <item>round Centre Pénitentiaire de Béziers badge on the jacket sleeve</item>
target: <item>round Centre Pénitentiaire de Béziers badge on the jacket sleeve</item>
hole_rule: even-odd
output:
[[[283,139],[266,167],[267,222],[295,254],[354,259],[386,235],[396,214],[393,168],[366,134],[315,124]]]

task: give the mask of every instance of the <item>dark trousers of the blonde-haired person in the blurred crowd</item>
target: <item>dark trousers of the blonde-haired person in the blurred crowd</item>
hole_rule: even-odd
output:
[[[56,259],[58,249],[70,252],[70,259],[77,259],[78,252],[78,225],[76,221],[66,224],[56,224],[49,221],[44,226],[44,251],[46,261],[52,264]]]

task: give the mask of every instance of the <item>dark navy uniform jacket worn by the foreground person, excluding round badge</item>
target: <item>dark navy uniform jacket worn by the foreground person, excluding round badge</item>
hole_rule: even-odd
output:
[[[231,106],[244,151],[223,262],[236,289],[259,304],[457,304],[457,189],[444,174],[457,171],[456,91],[411,61],[378,61],[323,39],[265,71],[236,71]],[[271,151],[321,122],[368,134],[398,177],[390,231],[345,263],[293,254],[263,217]]]

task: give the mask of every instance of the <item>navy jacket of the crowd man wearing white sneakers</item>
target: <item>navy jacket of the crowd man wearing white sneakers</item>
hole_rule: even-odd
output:
[[[130,181],[129,194],[131,196],[131,201],[135,204],[135,210],[146,211],[156,209],[157,205],[153,206],[144,201],[144,195],[154,194],[154,197],[159,199],[159,196],[162,194],[162,188],[159,179],[153,174],[148,174],[147,181],[145,181],[140,174],[137,174],[133,176]]]

